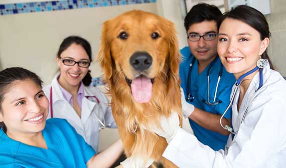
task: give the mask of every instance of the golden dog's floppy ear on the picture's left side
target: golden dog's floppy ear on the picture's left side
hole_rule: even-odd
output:
[[[112,76],[112,60],[110,54],[110,42],[108,40],[108,21],[104,22],[101,30],[100,47],[97,54],[97,61],[104,71],[105,79]]]

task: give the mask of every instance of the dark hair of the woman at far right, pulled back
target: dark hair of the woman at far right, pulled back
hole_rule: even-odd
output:
[[[254,8],[251,8],[246,5],[240,5],[233,10],[224,13],[219,22],[217,23],[218,30],[220,28],[220,25],[226,18],[235,19],[246,23],[247,25],[259,32],[260,40],[264,40],[265,38],[270,39],[271,33],[269,31],[269,25],[264,15]],[[268,60],[270,69],[275,70],[275,67],[273,66],[267,54],[267,49],[261,55],[261,58]]]

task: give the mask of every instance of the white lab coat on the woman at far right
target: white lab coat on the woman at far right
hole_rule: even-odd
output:
[[[214,151],[180,128],[163,156],[182,168],[286,167],[286,81],[267,64],[263,85],[255,92],[258,85],[259,72],[251,81],[239,112],[237,91],[232,125],[234,131],[239,131],[233,140],[229,136],[225,150]]]

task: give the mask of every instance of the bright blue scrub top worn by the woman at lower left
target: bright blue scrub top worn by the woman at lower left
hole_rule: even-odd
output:
[[[65,119],[48,119],[42,133],[48,149],[13,140],[1,129],[0,167],[86,167],[96,153]]]

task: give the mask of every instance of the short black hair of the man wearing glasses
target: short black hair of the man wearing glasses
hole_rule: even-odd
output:
[[[189,27],[195,23],[201,23],[204,21],[217,22],[222,16],[221,11],[214,5],[200,3],[195,5],[185,17],[185,29],[189,30]]]

